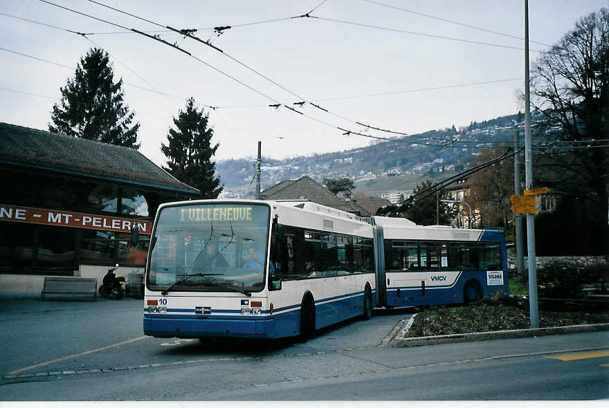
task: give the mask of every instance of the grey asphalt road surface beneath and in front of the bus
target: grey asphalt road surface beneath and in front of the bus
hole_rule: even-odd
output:
[[[0,400],[597,400],[609,332],[383,347],[412,310],[306,343],[154,339],[139,299],[3,301]]]

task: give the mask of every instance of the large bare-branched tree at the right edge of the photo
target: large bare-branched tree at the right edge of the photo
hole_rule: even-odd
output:
[[[543,53],[531,75],[538,121],[536,179],[593,202],[590,221],[609,254],[609,10],[583,17]],[[588,205],[588,207],[590,207]],[[574,216],[579,213],[574,209]]]

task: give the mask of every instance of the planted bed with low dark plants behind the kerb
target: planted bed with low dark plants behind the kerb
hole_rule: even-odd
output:
[[[539,311],[539,326],[609,323],[609,312]],[[407,337],[481,333],[530,328],[528,310],[497,302],[467,306],[433,306],[415,317]]]

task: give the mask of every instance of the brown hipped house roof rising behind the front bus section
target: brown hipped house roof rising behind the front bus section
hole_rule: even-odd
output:
[[[327,207],[336,208],[357,214],[359,216],[370,215],[370,212],[360,207],[353,201],[340,199],[329,189],[322,187],[309,176],[303,176],[298,180],[284,180],[269,187],[260,193],[263,200],[298,200],[305,199]]]

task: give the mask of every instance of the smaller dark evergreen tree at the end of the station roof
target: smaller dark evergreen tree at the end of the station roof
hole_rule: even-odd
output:
[[[194,98],[190,98],[186,110],[179,111],[178,118],[174,118],[177,130],[169,130],[169,144],[161,143],[161,151],[169,159],[163,168],[172,176],[199,189],[201,198],[217,198],[224,187],[219,186],[220,178],[215,177],[216,163],[212,156],[220,144],[211,145],[214,131],[208,127],[208,118],[202,108],[199,111],[194,106]]]

